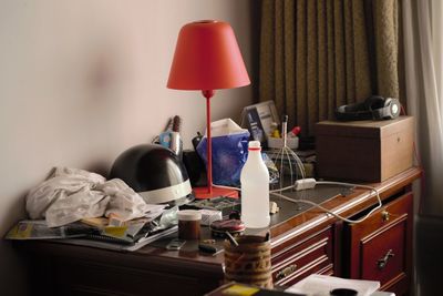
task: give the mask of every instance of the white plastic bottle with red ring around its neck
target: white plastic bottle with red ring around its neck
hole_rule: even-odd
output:
[[[269,226],[269,172],[261,159],[259,141],[250,141],[240,174],[241,221],[248,228]]]

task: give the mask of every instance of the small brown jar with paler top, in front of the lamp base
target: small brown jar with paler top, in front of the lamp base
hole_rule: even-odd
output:
[[[178,238],[198,239],[200,237],[202,213],[197,210],[184,210],[177,213]]]

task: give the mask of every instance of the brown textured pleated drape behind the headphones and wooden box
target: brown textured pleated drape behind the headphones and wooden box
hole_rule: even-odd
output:
[[[259,100],[312,135],[339,105],[399,98],[398,11],[396,0],[262,0]]]

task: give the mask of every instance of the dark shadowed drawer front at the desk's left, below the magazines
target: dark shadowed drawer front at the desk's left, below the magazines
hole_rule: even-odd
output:
[[[84,261],[60,259],[54,262],[51,278],[54,293],[35,295],[84,296],[145,296],[145,295],[203,295],[218,286],[216,278],[196,277],[146,269],[95,264]],[[151,280],[146,284],[146,280]]]

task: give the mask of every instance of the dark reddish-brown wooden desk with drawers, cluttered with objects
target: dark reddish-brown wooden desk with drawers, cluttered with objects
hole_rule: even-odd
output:
[[[412,275],[411,184],[420,174],[410,169],[373,184],[384,206],[354,225],[316,208],[300,213],[296,204],[274,198],[281,211],[268,228],[255,231],[270,232],[274,283],[290,285],[319,273],[381,280],[384,290],[406,293]],[[322,205],[356,218],[377,205],[377,198],[356,190]],[[209,236],[207,229],[204,235]],[[148,245],[133,253],[51,242],[16,245],[29,258],[35,295],[203,295],[223,280],[223,253],[199,253],[196,242],[179,252]]]

